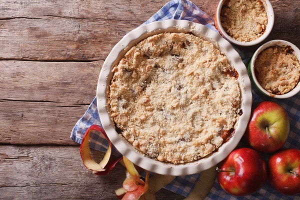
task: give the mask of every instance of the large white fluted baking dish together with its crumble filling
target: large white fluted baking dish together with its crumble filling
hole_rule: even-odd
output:
[[[136,165],[168,175],[224,159],[245,131],[251,102],[246,67],[231,44],[186,20],[155,21],[126,34],[97,85],[112,144]]]

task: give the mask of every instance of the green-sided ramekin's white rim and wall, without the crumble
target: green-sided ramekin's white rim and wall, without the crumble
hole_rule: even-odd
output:
[[[275,39],[275,40],[271,40],[268,41],[264,44],[262,44],[253,54],[249,64],[248,64],[248,73],[249,76],[251,77],[251,79],[253,80],[253,83],[255,84],[255,86],[257,87],[257,89],[262,92],[263,94],[273,97],[273,98],[288,98],[291,97],[293,95],[295,95],[296,93],[298,93],[300,91],[300,82],[298,82],[298,84],[289,92],[285,93],[285,94],[281,94],[281,95],[277,95],[277,94],[272,94],[268,91],[266,91],[258,82],[256,76],[255,76],[255,72],[254,72],[254,64],[255,64],[255,60],[257,58],[257,56],[259,55],[259,53],[264,50],[267,47],[270,46],[290,46],[292,48],[292,54],[294,54],[296,56],[296,58],[298,59],[298,61],[300,61],[300,50],[299,48],[297,48],[294,44],[290,43],[289,41],[285,41],[285,40],[281,40],[281,39]]]

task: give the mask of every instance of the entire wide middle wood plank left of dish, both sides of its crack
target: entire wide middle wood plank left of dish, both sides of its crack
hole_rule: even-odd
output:
[[[76,144],[103,61],[0,61],[0,143]]]

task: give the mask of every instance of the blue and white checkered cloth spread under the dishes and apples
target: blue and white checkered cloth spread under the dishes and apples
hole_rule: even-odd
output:
[[[185,19],[190,20],[196,23],[201,23],[208,28],[217,31],[214,27],[213,20],[202,10],[200,10],[195,4],[188,0],[171,0],[167,2],[157,13],[155,13],[151,18],[149,18],[144,24],[165,20],[165,19]],[[251,54],[249,52],[240,51],[235,48],[240,54],[244,63],[246,63]],[[254,85],[253,85],[254,86]],[[253,87],[252,87],[253,88]],[[297,94],[293,97],[287,99],[273,99],[262,96],[261,94],[256,94],[252,90],[253,94],[253,103],[260,102],[262,100],[270,100],[280,104],[286,109],[290,117],[290,133],[287,138],[287,141],[284,144],[284,147],[287,148],[298,148],[300,149],[300,94]],[[97,112],[96,98],[94,98],[87,108],[84,115],[78,120],[74,126],[70,138],[78,143],[81,143],[82,136],[86,129],[92,125],[98,124],[101,125],[99,115]],[[91,134],[90,147],[106,151],[108,142],[102,135],[94,133]],[[117,150],[113,150],[114,154],[119,154]],[[268,154],[264,154],[264,158],[267,160]],[[188,196],[192,191],[195,182],[200,177],[199,173],[185,176],[177,176],[175,179],[165,186],[166,189],[173,191],[175,193],[181,194],[183,196]],[[274,190],[269,183],[265,183],[260,190],[252,195],[247,195],[243,197],[234,197],[230,194],[227,194],[220,185],[215,180],[215,183],[210,190],[210,193],[206,199],[300,199],[300,196],[284,196]]]

